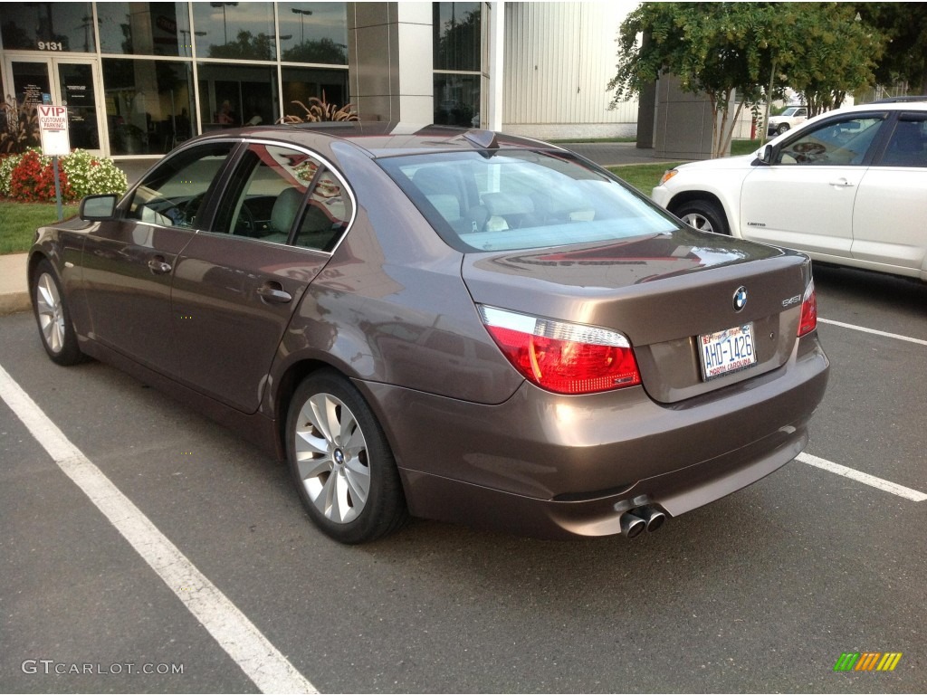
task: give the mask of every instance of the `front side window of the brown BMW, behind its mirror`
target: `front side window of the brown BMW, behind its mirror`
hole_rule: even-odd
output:
[[[201,226],[202,203],[234,146],[201,145],[165,160],[135,188],[126,216],[165,227]]]

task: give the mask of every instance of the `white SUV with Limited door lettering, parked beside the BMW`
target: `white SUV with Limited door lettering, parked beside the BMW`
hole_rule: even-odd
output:
[[[753,155],[667,171],[652,197],[699,229],[927,281],[927,102],[822,114]]]

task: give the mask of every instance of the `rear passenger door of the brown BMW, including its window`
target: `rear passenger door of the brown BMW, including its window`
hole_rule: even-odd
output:
[[[293,311],[352,210],[347,186],[321,159],[286,145],[248,145],[212,231],[185,246],[174,272],[184,383],[257,411]]]

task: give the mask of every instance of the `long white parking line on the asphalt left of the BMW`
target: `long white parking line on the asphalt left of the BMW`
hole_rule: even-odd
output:
[[[0,398],[261,692],[318,692],[0,366]]]

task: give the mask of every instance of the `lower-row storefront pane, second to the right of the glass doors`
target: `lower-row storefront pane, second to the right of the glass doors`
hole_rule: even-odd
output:
[[[271,66],[198,63],[203,132],[268,125],[280,118],[277,70]]]

